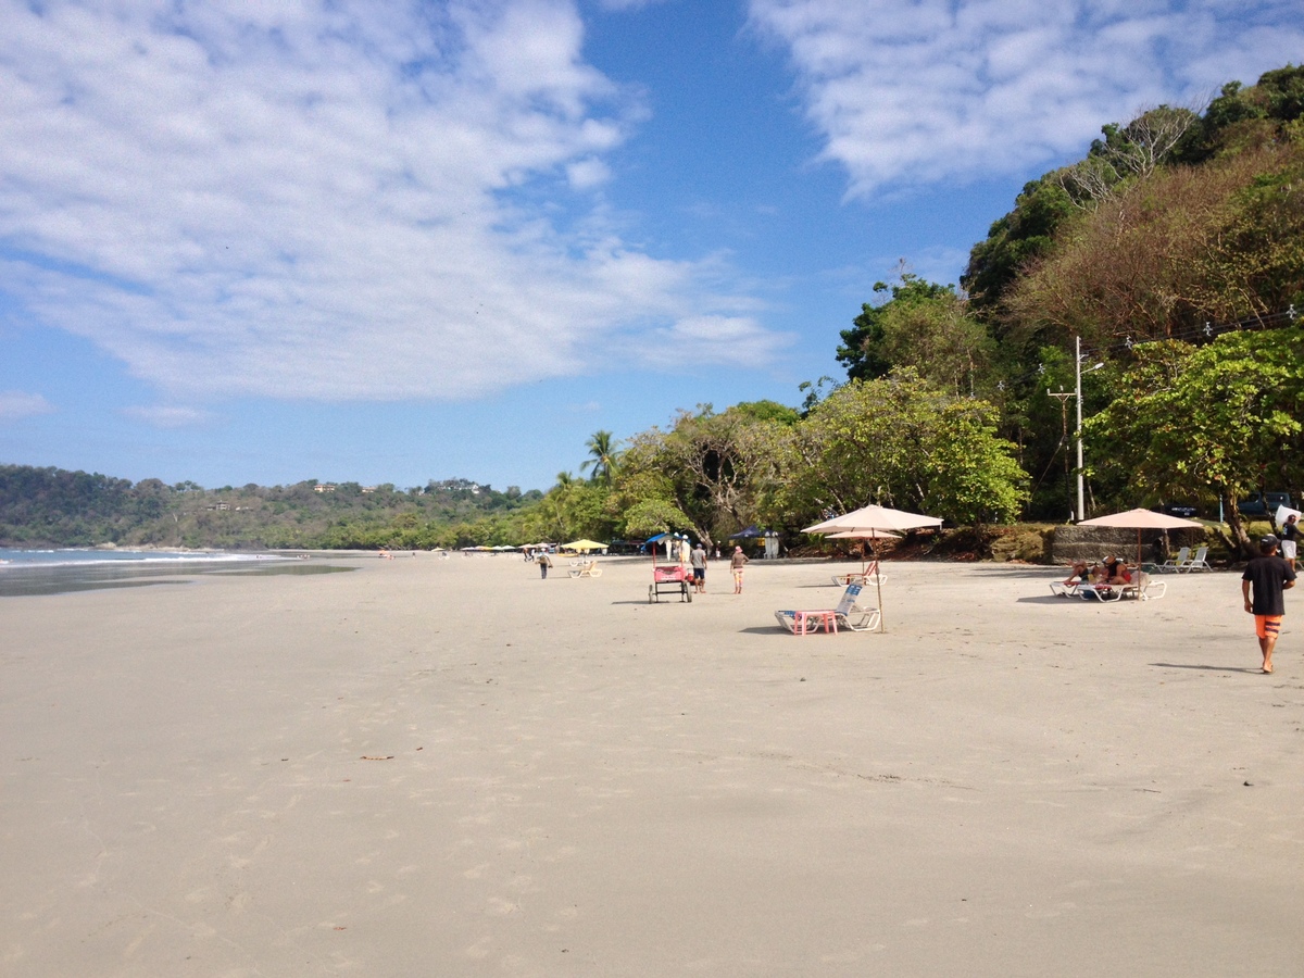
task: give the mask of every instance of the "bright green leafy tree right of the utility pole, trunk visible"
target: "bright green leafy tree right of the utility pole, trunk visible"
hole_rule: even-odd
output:
[[[1145,499],[1221,499],[1228,546],[1253,556],[1236,502],[1304,484],[1304,334],[1230,333],[1198,349],[1167,342],[1136,352],[1128,394],[1085,425],[1097,467]]]

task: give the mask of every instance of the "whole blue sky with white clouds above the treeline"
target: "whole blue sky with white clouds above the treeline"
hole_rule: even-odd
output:
[[[1297,0],[0,0],[0,462],[546,489],[1301,60]]]

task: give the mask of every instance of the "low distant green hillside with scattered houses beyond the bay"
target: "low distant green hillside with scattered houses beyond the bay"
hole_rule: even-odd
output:
[[[481,536],[486,519],[540,498],[537,490],[498,492],[466,479],[412,489],[317,480],[203,489],[0,466],[0,545],[429,549],[468,540],[472,528]]]

